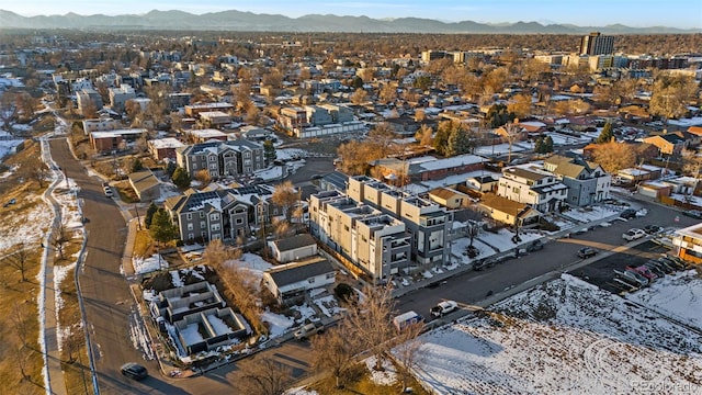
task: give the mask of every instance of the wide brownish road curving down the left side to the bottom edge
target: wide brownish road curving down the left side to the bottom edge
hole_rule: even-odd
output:
[[[144,361],[129,337],[129,325],[135,318],[135,301],[120,263],[124,252],[127,227],[117,205],[105,198],[102,180],[89,176],[72,156],[65,138],[49,142],[52,157],[80,188],[87,218],[88,245],[80,273],[86,304],[87,329],[94,350],[95,369],[101,394],[205,394],[231,393],[231,386],[222,377],[172,380],[159,373],[155,361]],[[120,366],[138,361],[149,370],[149,377],[136,382],[124,377]]]

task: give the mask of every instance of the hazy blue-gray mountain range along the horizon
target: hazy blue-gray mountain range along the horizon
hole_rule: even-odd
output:
[[[69,29],[90,31],[116,30],[180,30],[239,32],[338,32],[338,33],[444,33],[444,34],[690,34],[700,29],[667,26],[630,27],[622,24],[607,26],[576,26],[571,24],[541,24],[537,22],[478,23],[473,21],[441,22],[421,18],[377,20],[367,16],[308,14],[288,18],[280,14],[256,14],[236,10],[192,14],[183,11],[154,10],[146,14],[22,16],[0,10],[0,29]]]

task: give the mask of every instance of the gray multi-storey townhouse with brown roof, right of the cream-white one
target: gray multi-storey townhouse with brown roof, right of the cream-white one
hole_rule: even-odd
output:
[[[554,155],[544,160],[544,170],[568,187],[568,204],[587,206],[611,198],[612,177],[595,162]]]

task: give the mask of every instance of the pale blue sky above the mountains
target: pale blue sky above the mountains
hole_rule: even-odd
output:
[[[0,4],[1,10],[24,16],[102,13],[116,15],[146,13],[150,10],[181,10],[195,14],[225,10],[282,14],[366,15],[375,19],[417,16],[443,22],[482,23],[540,22],[579,26],[621,23],[632,27],[669,26],[702,29],[700,0],[26,0]]]

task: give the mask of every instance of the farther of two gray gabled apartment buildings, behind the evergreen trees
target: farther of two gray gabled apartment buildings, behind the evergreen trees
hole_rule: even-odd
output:
[[[246,139],[193,144],[176,150],[176,162],[193,178],[206,169],[213,178],[252,174],[265,168],[263,145]]]

